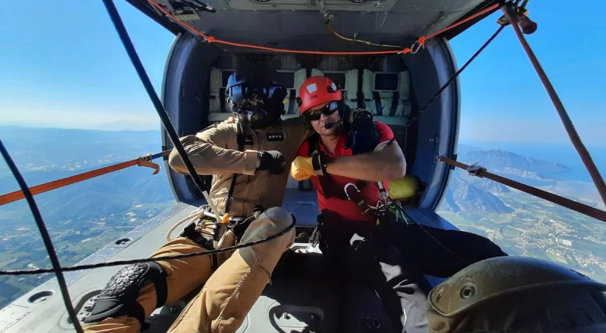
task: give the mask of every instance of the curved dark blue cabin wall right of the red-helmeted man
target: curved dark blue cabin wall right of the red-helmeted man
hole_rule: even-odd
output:
[[[450,169],[437,161],[438,156],[453,156],[459,125],[459,81],[449,85],[422,114],[416,111],[441,88],[456,71],[456,62],[448,42],[435,39],[416,54],[405,56],[414,83],[415,105],[407,128],[408,172],[425,185],[419,208],[435,209],[447,185]]]

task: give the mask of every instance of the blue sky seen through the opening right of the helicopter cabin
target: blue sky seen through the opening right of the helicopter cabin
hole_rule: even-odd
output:
[[[538,30],[528,43],[547,72],[581,138],[606,145],[604,1],[530,1]],[[493,15],[451,41],[462,65],[496,30]],[[461,74],[465,140],[569,142],[530,61],[510,27]]]

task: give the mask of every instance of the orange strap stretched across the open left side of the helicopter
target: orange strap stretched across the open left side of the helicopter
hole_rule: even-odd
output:
[[[162,151],[162,156],[168,156],[170,154],[170,150]],[[110,166],[105,166],[104,168],[100,168],[93,171],[88,171],[86,173],[76,174],[75,176],[66,177],[63,179],[53,180],[52,182],[44,183],[41,185],[36,185],[30,187],[30,191],[35,196],[36,194],[56,190],[57,188],[61,188],[63,186],[72,185],[73,183],[82,182],[82,180],[91,179],[97,176],[101,176],[102,174],[112,173],[113,171],[122,170],[124,168],[128,168],[129,166],[139,165],[139,166],[147,166],[149,168],[154,169],[153,174],[157,174],[160,170],[160,166],[156,163],[151,162],[150,156],[138,157],[134,160],[129,160],[127,162],[122,162]],[[3,194],[0,196],[0,206],[5,205],[10,202],[14,202],[17,200],[24,199],[24,194],[22,191],[15,191],[7,194]]]

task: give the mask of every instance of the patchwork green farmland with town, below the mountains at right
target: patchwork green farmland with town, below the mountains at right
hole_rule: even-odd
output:
[[[603,222],[519,191],[497,196],[514,212],[482,215],[438,210],[438,214],[458,228],[481,236],[486,236],[484,229],[496,231],[494,242],[508,254],[551,260],[606,283],[606,245],[598,243],[606,239]],[[572,245],[565,245],[562,239]],[[559,251],[562,257],[547,251]]]

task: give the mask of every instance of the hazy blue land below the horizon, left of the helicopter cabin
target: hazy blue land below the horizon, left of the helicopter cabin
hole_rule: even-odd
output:
[[[29,186],[161,151],[159,131],[63,130],[0,126],[0,139]],[[63,265],[90,256],[175,203],[162,170],[131,166],[35,196]],[[18,190],[0,163],[0,194]],[[25,200],[0,206],[0,268],[48,266]],[[51,275],[0,277],[0,308]]]

